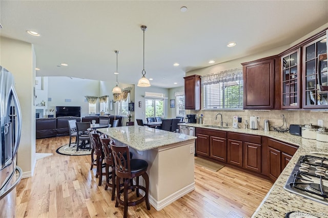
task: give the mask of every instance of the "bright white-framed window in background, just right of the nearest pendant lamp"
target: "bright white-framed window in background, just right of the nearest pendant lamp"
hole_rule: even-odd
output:
[[[164,94],[146,92],[145,97],[146,117],[164,117]]]

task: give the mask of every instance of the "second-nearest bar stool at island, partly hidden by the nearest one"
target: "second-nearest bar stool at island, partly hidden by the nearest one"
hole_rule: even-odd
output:
[[[115,198],[115,166],[112,159],[112,150],[110,148],[109,142],[110,138],[107,135],[103,134],[100,136],[101,145],[103,145],[103,150],[105,154],[105,174],[106,174],[106,186],[105,190],[108,189],[108,186],[112,188],[112,201]],[[112,167],[112,171],[109,171],[109,167]],[[110,183],[112,180],[112,183]]]

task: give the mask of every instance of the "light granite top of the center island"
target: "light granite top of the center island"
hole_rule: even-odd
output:
[[[194,136],[138,125],[97,128],[97,130],[139,151],[196,139]]]

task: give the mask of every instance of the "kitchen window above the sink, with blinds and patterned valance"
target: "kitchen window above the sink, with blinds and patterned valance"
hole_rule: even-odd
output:
[[[242,70],[201,77],[204,109],[240,110],[243,102]]]

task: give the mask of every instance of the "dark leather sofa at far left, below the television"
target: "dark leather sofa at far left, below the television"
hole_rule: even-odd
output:
[[[39,118],[35,120],[36,139],[69,136],[68,120],[80,122],[79,117]]]

